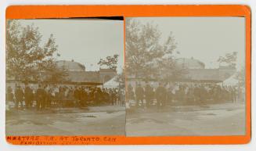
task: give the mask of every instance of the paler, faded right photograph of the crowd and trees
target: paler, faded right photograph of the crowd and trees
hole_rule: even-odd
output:
[[[127,136],[245,135],[245,18],[125,18]]]

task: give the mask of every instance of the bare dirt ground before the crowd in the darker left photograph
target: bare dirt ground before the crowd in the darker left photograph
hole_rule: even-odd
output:
[[[123,106],[6,113],[6,135],[124,135]]]

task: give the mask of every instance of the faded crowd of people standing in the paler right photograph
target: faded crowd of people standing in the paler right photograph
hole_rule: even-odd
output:
[[[128,100],[135,100],[135,106],[163,107],[166,105],[202,105],[205,103],[243,102],[244,90],[237,86],[219,84],[168,84],[160,83],[153,88],[150,84],[142,87],[128,85]]]

